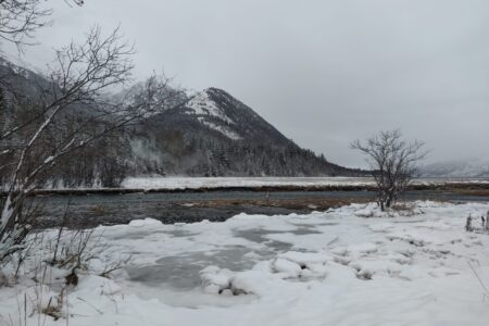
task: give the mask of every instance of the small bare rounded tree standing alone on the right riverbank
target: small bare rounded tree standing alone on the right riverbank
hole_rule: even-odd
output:
[[[367,156],[377,186],[377,202],[384,211],[390,208],[417,175],[417,163],[427,152],[424,142],[406,142],[400,130],[380,131],[365,142],[355,140],[351,148]]]

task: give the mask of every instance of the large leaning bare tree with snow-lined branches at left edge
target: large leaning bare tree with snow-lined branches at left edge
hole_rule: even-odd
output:
[[[71,43],[57,52],[49,77],[39,83],[34,100],[24,103],[29,113],[0,130],[0,141],[15,140],[3,150],[8,172],[7,197],[0,215],[0,262],[22,249],[33,221],[23,213],[24,202],[55,165],[68,154],[105,135],[158,112],[172,102],[168,79],[153,75],[137,91],[116,100],[106,91],[131,80],[133,47],[118,29],[103,37],[93,27],[82,45]]]

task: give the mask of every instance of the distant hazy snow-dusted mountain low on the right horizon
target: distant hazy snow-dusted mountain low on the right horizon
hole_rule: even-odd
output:
[[[424,166],[425,177],[489,177],[489,160],[459,160],[438,162]]]

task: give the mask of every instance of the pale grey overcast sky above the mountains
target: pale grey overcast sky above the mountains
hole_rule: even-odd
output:
[[[121,25],[137,75],[217,87],[288,138],[360,166],[355,138],[401,128],[429,161],[489,158],[488,0],[86,0],[54,4],[24,60]]]

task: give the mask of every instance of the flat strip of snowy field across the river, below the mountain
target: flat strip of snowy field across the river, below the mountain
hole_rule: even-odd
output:
[[[414,184],[488,183],[477,178],[421,178]],[[122,187],[130,189],[198,189],[222,187],[322,187],[372,186],[369,177],[128,177]]]

